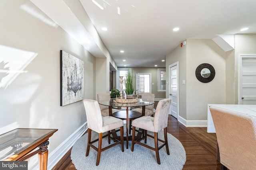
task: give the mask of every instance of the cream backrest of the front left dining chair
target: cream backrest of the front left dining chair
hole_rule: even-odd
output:
[[[102,133],[103,121],[98,102],[90,99],[84,99],[83,102],[88,128]]]

